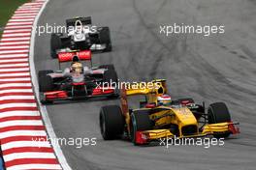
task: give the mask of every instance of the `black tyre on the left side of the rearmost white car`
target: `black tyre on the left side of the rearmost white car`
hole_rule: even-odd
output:
[[[60,36],[62,34],[51,34],[50,36],[50,56],[51,58],[57,58],[57,49],[62,47]]]

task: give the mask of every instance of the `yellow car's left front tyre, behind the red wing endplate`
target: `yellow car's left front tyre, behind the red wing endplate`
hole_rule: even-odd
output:
[[[138,110],[131,114],[131,132],[130,137],[134,145],[138,144],[136,138],[137,131],[152,129],[152,121],[149,119],[148,110]]]

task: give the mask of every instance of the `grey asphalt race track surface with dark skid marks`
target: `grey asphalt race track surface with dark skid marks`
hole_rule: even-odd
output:
[[[62,24],[91,15],[95,25],[110,26],[113,51],[93,55],[95,65],[114,64],[121,80],[168,79],[174,99],[225,101],[240,122],[240,135],[224,146],[135,147],[103,141],[98,126],[102,105],[118,100],[48,106],[58,137],[96,137],[96,146],[62,146],[75,170],[255,169],[256,3],[253,0],[52,0],[39,25]],[[160,25],[225,25],[225,34],[159,33]],[[49,57],[49,35],[36,39],[35,64],[56,70]],[[132,100],[135,105],[135,100]]]

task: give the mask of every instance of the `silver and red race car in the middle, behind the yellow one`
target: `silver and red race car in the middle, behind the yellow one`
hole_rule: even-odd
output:
[[[39,91],[42,103],[63,99],[90,99],[93,97],[117,97],[112,88],[117,82],[117,74],[112,65],[99,67],[83,66],[91,62],[91,51],[73,51],[58,54],[60,71],[39,71]],[[82,63],[83,61],[83,63]],[[70,67],[61,71],[61,63],[72,62]]]

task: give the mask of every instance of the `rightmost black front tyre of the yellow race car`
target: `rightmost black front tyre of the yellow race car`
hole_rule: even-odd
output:
[[[208,106],[208,124],[231,122],[230,112],[224,102],[214,102]],[[213,134],[215,138],[227,138],[230,132]]]

